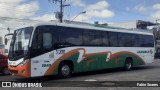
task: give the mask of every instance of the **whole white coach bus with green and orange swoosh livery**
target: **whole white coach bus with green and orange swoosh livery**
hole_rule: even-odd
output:
[[[38,77],[106,68],[132,67],[154,61],[152,33],[74,24],[41,23],[15,30],[9,71]]]

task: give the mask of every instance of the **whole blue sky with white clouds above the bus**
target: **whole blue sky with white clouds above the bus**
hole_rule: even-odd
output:
[[[50,1],[50,2],[49,2]],[[59,3],[54,0],[0,0],[0,29],[17,27],[33,21],[56,20]],[[155,22],[160,19],[160,0],[64,0],[70,6],[64,8],[64,19],[80,22],[114,23],[135,20]],[[86,11],[84,14],[81,12]],[[80,14],[80,15],[79,15]]]

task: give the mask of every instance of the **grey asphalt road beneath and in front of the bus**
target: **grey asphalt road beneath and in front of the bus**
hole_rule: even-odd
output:
[[[11,75],[0,75],[0,81],[15,81],[15,82],[38,82],[42,86],[50,86],[46,88],[36,88],[39,90],[150,90],[152,87],[104,87],[102,84],[112,85],[108,83],[112,81],[160,81],[160,59],[155,59],[154,63],[133,68],[131,71],[124,71],[122,68],[106,69],[94,72],[84,72],[73,74],[67,79],[60,79],[57,76],[38,77],[38,78],[22,78]],[[98,83],[88,83],[87,81],[96,81]],[[99,82],[100,81],[100,82]],[[107,82],[107,83],[102,83]],[[87,82],[87,83],[86,83]],[[129,82],[128,82],[129,83]],[[125,82],[125,84],[128,84]],[[99,85],[101,84],[101,85]],[[160,83],[159,83],[160,85]],[[102,86],[102,87],[101,87]],[[11,88],[5,88],[10,90]],[[12,88],[13,89],[13,88]],[[21,90],[22,88],[14,88]],[[28,88],[23,88],[28,89]],[[31,90],[35,88],[30,88]],[[160,90],[160,88],[152,88],[153,90]]]

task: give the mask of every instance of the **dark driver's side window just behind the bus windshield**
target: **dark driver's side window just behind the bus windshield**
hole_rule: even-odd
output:
[[[37,27],[35,35],[32,41],[32,55],[37,56],[44,54],[53,49],[53,37],[52,32],[46,26]]]

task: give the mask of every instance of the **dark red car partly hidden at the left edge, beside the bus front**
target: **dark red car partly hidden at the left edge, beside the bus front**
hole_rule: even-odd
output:
[[[0,54],[0,73],[9,74],[8,57]]]

